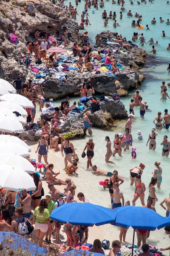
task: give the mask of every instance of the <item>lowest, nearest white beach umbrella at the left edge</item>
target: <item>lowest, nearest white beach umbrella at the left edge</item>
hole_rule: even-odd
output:
[[[27,191],[35,190],[33,177],[23,172],[15,166],[0,166],[0,188],[4,190],[17,191],[19,188],[25,188]]]

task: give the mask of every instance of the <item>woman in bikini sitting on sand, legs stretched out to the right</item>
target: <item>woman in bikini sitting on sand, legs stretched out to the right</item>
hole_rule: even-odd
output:
[[[47,183],[52,183],[54,185],[67,185],[67,183],[64,180],[60,180],[56,178],[56,176],[59,175],[60,172],[54,172],[53,169],[54,169],[54,165],[50,163],[46,171]]]

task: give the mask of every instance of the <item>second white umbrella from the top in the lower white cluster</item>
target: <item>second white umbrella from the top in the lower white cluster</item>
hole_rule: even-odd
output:
[[[3,135],[0,135],[0,137]],[[23,145],[14,143],[12,141],[1,141],[0,142],[0,153],[17,154],[21,157],[28,157],[28,149]]]

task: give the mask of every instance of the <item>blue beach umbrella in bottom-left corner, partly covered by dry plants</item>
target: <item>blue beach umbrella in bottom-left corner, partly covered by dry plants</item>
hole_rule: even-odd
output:
[[[31,256],[38,254],[47,254],[47,250],[43,249],[39,245],[31,242],[29,239],[26,239],[24,236],[20,236],[17,233],[8,233],[0,231],[0,242],[3,244],[5,250],[8,245],[10,249],[23,249],[26,252],[29,252]]]

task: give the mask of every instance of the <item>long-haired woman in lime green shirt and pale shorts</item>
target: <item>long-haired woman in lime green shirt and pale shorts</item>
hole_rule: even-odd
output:
[[[50,215],[48,211],[48,203],[46,199],[40,201],[39,206],[34,210],[34,217],[32,219],[32,225],[35,221],[35,232],[37,239],[39,239],[39,245],[42,246],[42,241],[44,239],[45,233],[50,229],[53,231],[53,228],[50,223]]]

